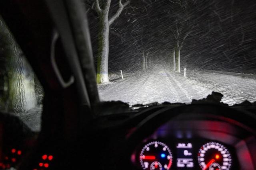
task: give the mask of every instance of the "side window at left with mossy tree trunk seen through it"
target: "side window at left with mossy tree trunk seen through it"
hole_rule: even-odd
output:
[[[40,131],[43,88],[0,17],[0,112],[14,114]]]

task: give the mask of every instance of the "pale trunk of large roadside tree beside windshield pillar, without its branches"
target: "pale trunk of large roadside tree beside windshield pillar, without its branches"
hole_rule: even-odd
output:
[[[97,83],[109,82],[108,79],[108,37],[109,37],[109,22],[108,14],[103,13],[100,16],[100,33],[99,47],[97,56]]]

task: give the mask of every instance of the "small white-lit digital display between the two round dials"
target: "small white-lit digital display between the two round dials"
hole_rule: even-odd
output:
[[[177,168],[178,169],[191,169],[194,167],[193,160],[193,146],[191,143],[178,143],[177,149]]]

